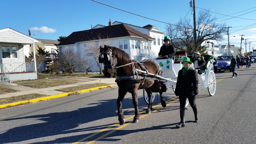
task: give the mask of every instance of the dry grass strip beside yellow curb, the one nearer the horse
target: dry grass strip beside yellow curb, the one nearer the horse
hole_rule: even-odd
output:
[[[60,92],[75,92],[75,91],[90,89],[90,88],[104,86],[104,85],[109,85],[109,84],[104,84],[104,83],[84,84],[84,85],[79,85],[79,86],[73,86],[73,87],[57,89],[56,91],[60,91]]]

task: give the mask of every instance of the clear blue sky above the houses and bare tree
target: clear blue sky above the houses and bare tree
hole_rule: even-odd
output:
[[[191,11],[188,12],[190,10],[190,0],[98,1],[167,23],[176,23],[185,16],[193,20]],[[225,20],[231,17],[224,17],[224,15],[211,12],[212,16],[218,18],[217,20],[225,22],[227,26],[232,27],[229,31],[230,36],[236,37],[230,37],[230,44],[240,47],[241,36],[239,35],[243,34],[245,35],[243,36],[244,38],[248,38],[247,51],[249,50],[250,41],[251,47],[256,49],[256,0],[196,0],[195,3],[196,7],[199,7],[196,8],[196,14],[201,10],[200,8],[203,8],[225,15],[239,12],[232,16],[241,15],[239,16],[240,18],[253,19],[232,18]],[[92,27],[97,24],[108,25],[109,19],[112,22],[120,21],[141,27],[151,24],[160,28],[158,29],[159,31],[166,31],[165,23],[142,18],[91,0],[0,0],[0,4],[2,7],[0,29],[9,27],[26,35],[28,35],[28,29],[30,29],[32,37],[40,39],[56,40],[59,36],[68,36],[74,31],[90,29],[91,25]],[[254,25],[240,27],[251,24]],[[227,44],[227,38],[218,43],[214,42],[214,44]],[[242,47],[245,47],[244,42]]]

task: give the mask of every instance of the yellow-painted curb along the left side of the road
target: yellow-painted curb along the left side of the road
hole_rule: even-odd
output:
[[[107,88],[107,87],[113,87],[113,84],[94,87],[94,88],[85,89],[85,90],[81,90],[81,91],[75,91],[75,92],[78,92],[78,93],[89,92],[89,91],[94,91],[94,90],[98,90],[100,88]],[[15,106],[15,105],[19,105],[19,104],[25,104],[25,103],[29,103],[29,102],[38,102],[38,101],[43,101],[43,100],[50,100],[50,99],[65,97],[65,96],[68,96],[70,93],[74,93],[74,92],[66,92],[66,93],[56,94],[56,95],[52,95],[52,96],[46,96],[46,97],[42,97],[42,98],[36,98],[36,99],[31,99],[31,100],[24,100],[24,101],[19,101],[19,102],[8,103],[8,104],[0,105],[0,108],[5,108],[5,107],[8,107],[8,106]]]

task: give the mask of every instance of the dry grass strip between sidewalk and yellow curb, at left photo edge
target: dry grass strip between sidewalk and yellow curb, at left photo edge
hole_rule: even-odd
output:
[[[1,98],[0,99],[0,105],[7,104],[7,103],[18,102],[18,101],[23,101],[23,100],[36,99],[36,98],[41,98],[41,97],[45,97],[45,96],[46,95],[31,93],[31,94],[26,94],[26,95],[19,95],[19,96],[13,96],[13,97],[8,97],[8,98]]]

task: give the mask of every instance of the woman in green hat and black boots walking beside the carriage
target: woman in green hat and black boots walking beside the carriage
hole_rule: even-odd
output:
[[[195,69],[191,67],[192,62],[188,57],[184,57],[181,64],[183,68],[178,73],[175,95],[180,99],[180,123],[176,127],[185,126],[185,105],[188,98],[195,115],[195,123],[198,122],[196,107],[196,95],[198,94],[198,77]]]

